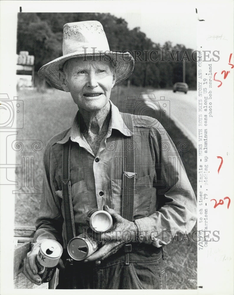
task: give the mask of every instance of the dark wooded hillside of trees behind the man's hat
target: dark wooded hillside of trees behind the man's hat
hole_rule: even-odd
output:
[[[101,22],[110,50],[128,50],[132,53],[135,68],[129,79],[133,85],[165,88],[183,81],[182,62],[168,60],[167,51],[182,58],[185,53],[191,56],[191,49],[186,49],[182,44],[172,47],[172,43],[167,41],[162,46],[165,49],[161,55],[160,44],[152,42],[140,27],[129,30],[125,19],[110,13],[19,13],[17,53],[26,50],[34,55],[37,71],[45,63],[62,56],[63,25],[86,20]],[[153,50],[159,51],[159,60],[167,61],[150,59],[149,53]],[[189,87],[196,87],[196,62],[186,61],[186,82]]]

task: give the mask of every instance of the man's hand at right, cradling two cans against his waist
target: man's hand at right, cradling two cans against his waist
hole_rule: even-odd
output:
[[[116,253],[124,244],[136,241],[137,227],[134,222],[124,219],[107,205],[103,210],[109,212],[113,219],[113,229],[101,235],[101,240],[106,242],[98,251],[87,257],[84,262],[103,260]]]

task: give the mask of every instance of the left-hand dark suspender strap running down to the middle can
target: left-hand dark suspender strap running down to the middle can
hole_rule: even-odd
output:
[[[75,222],[70,181],[70,150],[71,144],[70,141],[68,141],[62,146],[62,197],[67,243],[75,237]]]

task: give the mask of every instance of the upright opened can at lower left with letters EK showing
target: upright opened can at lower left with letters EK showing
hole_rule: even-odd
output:
[[[42,283],[49,282],[56,270],[62,255],[62,246],[55,240],[45,240],[41,243],[36,257],[38,274],[42,278]]]

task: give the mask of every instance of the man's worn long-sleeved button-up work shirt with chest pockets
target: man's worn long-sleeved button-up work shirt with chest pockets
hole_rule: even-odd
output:
[[[170,242],[170,235],[192,230],[196,199],[178,152],[162,125],[154,118],[134,116],[133,132],[111,101],[106,137],[94,155],[79,128],[79,111],[72,127],[52,137],[44,154],[44,194],[36,222],[34,242],[50,238],[63,242],[62,145],[71,142],[70,180],[76,234],[83,232],[84,215],[107,204],[121,215],[123,136],[135,144],[134,219],[141,241],[156,247]],[[64,243],[66,245],[66,243]]]

